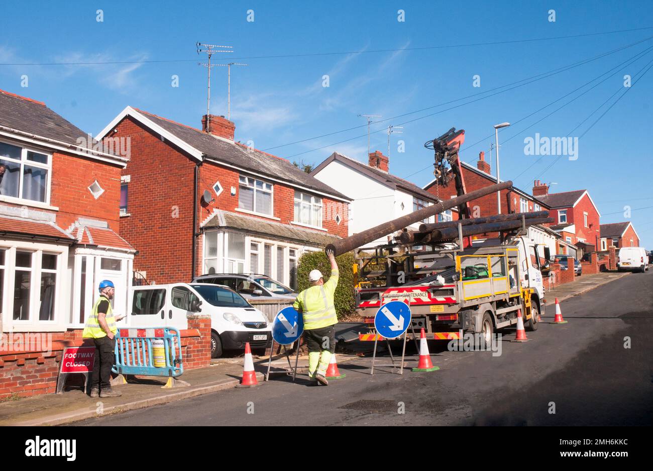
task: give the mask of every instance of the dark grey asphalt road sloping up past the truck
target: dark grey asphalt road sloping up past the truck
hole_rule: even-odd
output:
[[[653,270],[561,306],[569,323],[551,324],[550,308],[529,342],[505,332],[500,356],[430,344],[436,372],[371,376],[362,359],[328,386],[277,376],[76,425],[652,425]]]

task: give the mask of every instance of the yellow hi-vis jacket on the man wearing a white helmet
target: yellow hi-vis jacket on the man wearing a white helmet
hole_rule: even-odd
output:
[[[328,282],[311,286],[297,295],[293,308],[302,311],[304,329],[319,329],[338,323],[333,295],[338,285],[338,270],[331,270]]]

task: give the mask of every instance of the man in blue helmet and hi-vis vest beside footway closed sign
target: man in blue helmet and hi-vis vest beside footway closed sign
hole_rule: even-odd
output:
[[[116,321],[125,316],[114,316],[111,299],[116,288],[109,280],[100,282],[100,297],[88,316],[83,338],[92,338],[95,344],[95,361],[91,376],[91,397],[119,397],[122,394],[111,388],[111,367],[114,365],[116,348]]]

